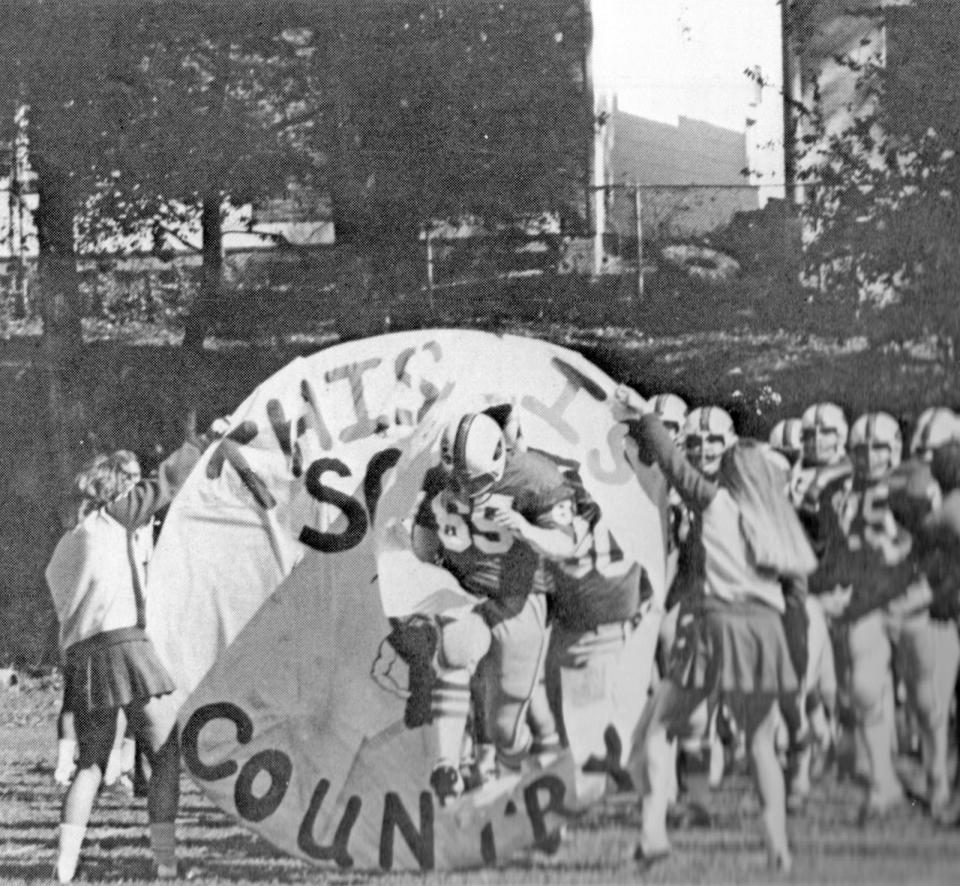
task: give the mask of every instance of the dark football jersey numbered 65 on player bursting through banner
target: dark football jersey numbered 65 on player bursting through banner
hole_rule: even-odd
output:
[[[416,525],[435,532],[441,564],[465,590],[485,597],[509,597],[553,589],[540,555],[525,541],[494,522],[499,508],[511,508],[544,529],[563,527],[572,535],[574,491],[557,468],[534,452],[508,451],[503,477],[479,505],[458,500],[447,488],[440,467],[427,471]],[[569,519],[554,507],[569,501]]]

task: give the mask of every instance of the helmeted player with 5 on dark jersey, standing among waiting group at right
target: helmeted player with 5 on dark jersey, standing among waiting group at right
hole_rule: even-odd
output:
[[[883,815],[903,799],[893,765],[890,716],[891,641],[899,639],[887,604],[910,582],[911,539],[889,507],[887,481],[900,464],[900,427],[885,412],[860,416],[850,431],[853,474],[822,494],[824,552],[810,579],[828,615],[842,624],[849,693],[868,791],[861,821]]]

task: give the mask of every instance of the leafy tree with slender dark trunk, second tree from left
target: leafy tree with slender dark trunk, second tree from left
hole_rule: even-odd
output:
[[[188,351],[202,348],[221,310],[224,200],[277,196],[291,178],[304,183],[316,173],[303,128],[321,90],[311,79],[304,14],[316,17],[306,5],[248,0],[143,4],[92,228],[146,225],[161,234],[199,219],[202,277]]]

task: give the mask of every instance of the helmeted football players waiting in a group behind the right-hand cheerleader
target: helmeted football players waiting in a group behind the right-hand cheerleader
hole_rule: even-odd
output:
[[[674,395],[653,407],[705,474],[737,445],[733,421],[718,407],[688,412]],[[799,716],[781,704],[787,806],[803,808],[811,763],[822,770],[833,758],[848,761],[866,785],[862,823],[894,815],[910,799],[954,824],[960,810],[948,751],[960,664],[960,419],[927,409],[904,452],[893,416],[870,412],[848,425],[839,406],[817,403],[777,422],[768,445],[817,557],[799,594],[786,595],[795,605],[785,607],[784,625],[801,678]],[[686,507],[674,498],[671,510],[682,548]],[[911,728],[898,730],[898,722]],[[898,751],[910,750],[922,775],[904,784],[896,762]]]

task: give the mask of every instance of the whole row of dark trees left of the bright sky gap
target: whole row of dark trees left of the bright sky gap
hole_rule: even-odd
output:
[[[0,127],[26,108],[49,447],[87,428],[78,242],[198,225],[183,342],[222,310],[222,210],[327,193],[363,269],[431,220],[576,218],[590,134],[581,0],[8,0]],[[8,131],[6,135],[11,135]],[[79,236],[78,236],[79,235]],[[188,367],[189,368],[189,367]]]

